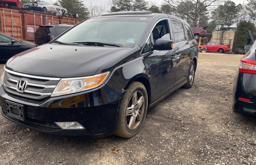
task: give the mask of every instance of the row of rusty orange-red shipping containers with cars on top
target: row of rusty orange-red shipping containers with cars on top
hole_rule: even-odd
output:
[[[0,32],[14,38],[35,41],[35,32],[41,25],[76,25],[83,19],[59,17],[38,11],[0,8]]]

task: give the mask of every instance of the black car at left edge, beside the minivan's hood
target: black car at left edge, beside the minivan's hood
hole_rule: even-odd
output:
[[[8,60],[12,56],[38,46],[35,43],[18,40],[0,32],[0,60]]]

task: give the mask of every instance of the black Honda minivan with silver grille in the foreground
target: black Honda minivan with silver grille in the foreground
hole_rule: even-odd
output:
[[[197,57],[182,19],[107,13],[10,58],[1,75],[1,112],[47,134],[130,138],[148,109],[179,87],[192,87]]]

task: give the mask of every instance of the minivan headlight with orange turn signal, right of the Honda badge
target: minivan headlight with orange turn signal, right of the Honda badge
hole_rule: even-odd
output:
[[[59,81],[51,96],[67,95],[96,88],[104,83],[109,73],[105,72],[86,77],[63,78]]]

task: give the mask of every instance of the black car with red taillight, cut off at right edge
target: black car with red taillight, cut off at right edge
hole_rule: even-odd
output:
[[[256,42],[240,60],[233,85],[233,110],[256,115]]]

